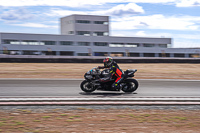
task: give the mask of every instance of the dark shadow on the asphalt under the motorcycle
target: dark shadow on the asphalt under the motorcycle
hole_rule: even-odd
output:
[[[87,96],[102,96],[102,97],[110,97],[110,96],[125,96],[125,95],[135,95],[137,93],[124,93],[124,92],[80,92],[80,95]]]

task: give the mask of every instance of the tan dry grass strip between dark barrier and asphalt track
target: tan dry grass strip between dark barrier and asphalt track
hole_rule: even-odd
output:
[[[88,63],[0,63],[0,78],[83,78],[85,72],[103,64]],[[138,69],[137,79],[200,80],[200,64],[119,64]]]

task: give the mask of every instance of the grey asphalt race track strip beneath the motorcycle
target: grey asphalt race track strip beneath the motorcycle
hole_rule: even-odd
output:
[[[0,79],[0,97],[200,97],[199,80],[138,80],[134,93],[81,91],[82,80]]]

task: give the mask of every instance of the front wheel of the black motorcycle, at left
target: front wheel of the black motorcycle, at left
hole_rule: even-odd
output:
[[[81,87],[81,90],[84,91],[84,92],[93,92],[93,91],[95,91],[94,85],[91,82],[87,81],[87,80],[84,80],[81,83],[80,87]]]

